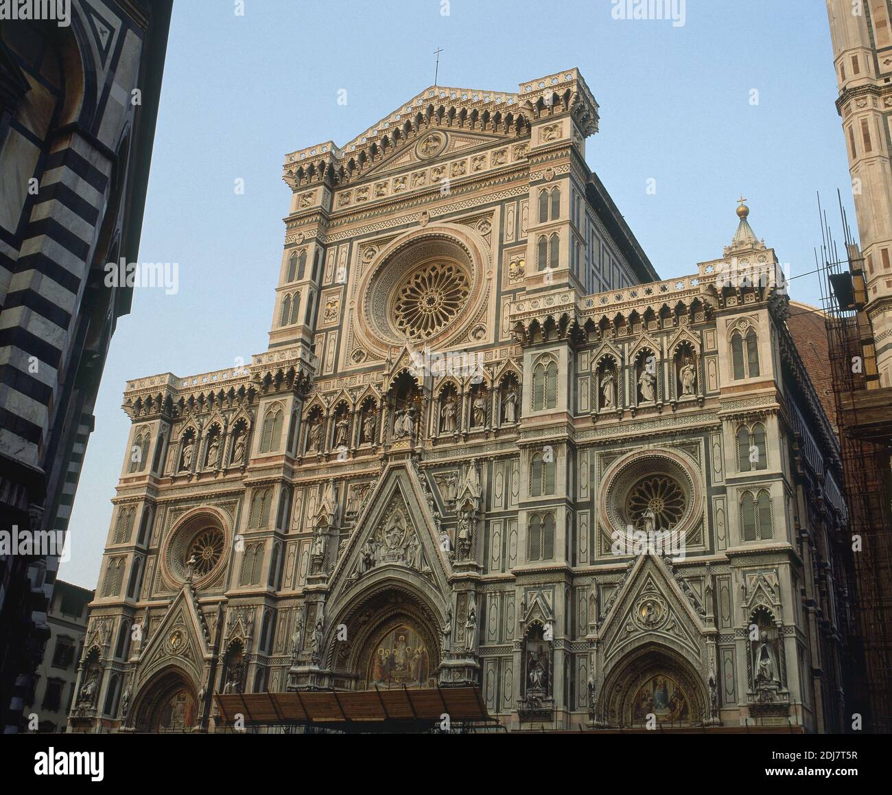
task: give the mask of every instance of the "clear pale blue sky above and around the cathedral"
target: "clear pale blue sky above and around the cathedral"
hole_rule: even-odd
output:
[[[96,584],[127,379],[186,377],[266,350],[285,153],[343,145],[433,84],[437,47],[447,87],[516,91],[582,71],[601,116],[589,165],[661,277],[721,256],[739,195],[791,276],[814,269],[815,193],[838,226],[841,189],[855,218],[822,0],[687,0],[682,27],[615,20],[612,7],[451,0],[444,15],[441,0],[244,0],[236,16],[230,0],[177,0],[140,261],[178,262],[179,291],[137,289],[111,341],[62,579]],[[795,278],[791,294],[818,303],[816,275]]]

